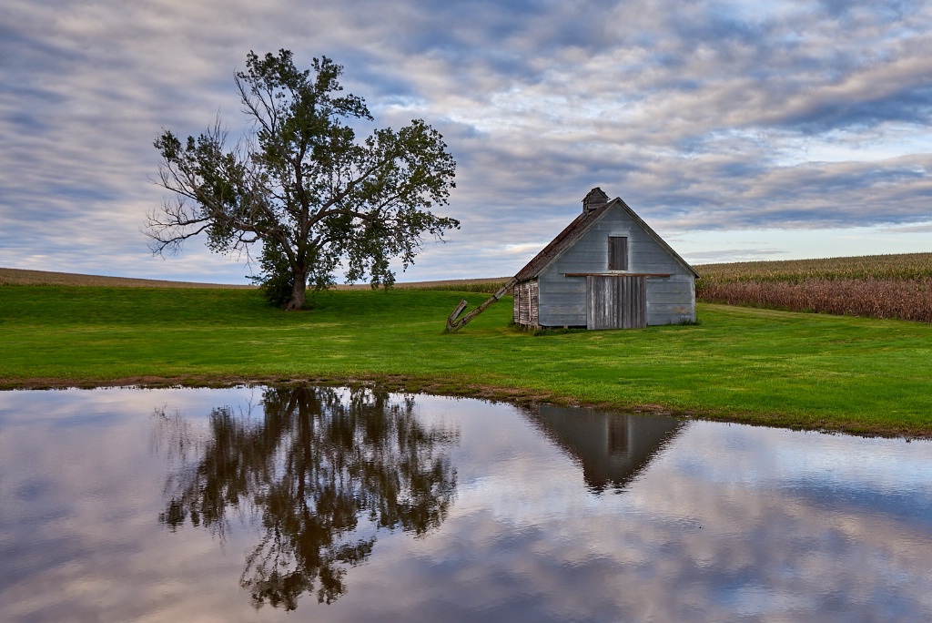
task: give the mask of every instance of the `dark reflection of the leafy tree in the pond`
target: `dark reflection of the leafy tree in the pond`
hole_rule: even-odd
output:
[[[318,602],[333,602],[378,529],[421,536],[445,519],[459,433],[420,422],[413,399],[304,386],[268,388],[262,402],[258,420],[213,409],[198,460],[171,475],[158,518],[172,531],[189,520],[223,536],[228,513],[261,517],[264,535],[240,576],[256,607],[294,610],[315,585]],[[371,525],[363,538],[361,519]]]

